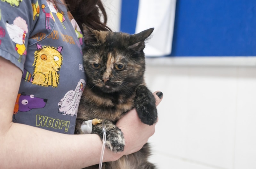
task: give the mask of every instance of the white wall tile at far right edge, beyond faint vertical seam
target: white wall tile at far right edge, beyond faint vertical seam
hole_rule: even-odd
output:
[[[235,169],[256,168],[256,69],[240,68],[237,95]]]

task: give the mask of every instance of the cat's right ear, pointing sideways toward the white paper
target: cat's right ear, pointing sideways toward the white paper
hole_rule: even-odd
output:
[[[151,35],[154,28],[149,28],[137,34],[131,35],[132,43],[129,44],[129,48],[142,51],[145,48],[145,40]]]

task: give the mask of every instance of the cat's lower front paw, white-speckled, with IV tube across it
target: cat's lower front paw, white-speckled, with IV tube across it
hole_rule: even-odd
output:
[[[112,122],[104,120],[106,129],[106,147],[113,152],[124,151],[124,135],[123,132]],[[92,127],[92,133],[98,134],[103,140],[102,124]]]

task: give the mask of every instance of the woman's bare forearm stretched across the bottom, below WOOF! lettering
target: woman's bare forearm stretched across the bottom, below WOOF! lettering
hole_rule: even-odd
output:
[[[101,145],[94,134],[67,135],[12,123],[0,136],[0,168],[83,168],[99,163]],[[104,155],[104,161],[120,156],[107,149]]]

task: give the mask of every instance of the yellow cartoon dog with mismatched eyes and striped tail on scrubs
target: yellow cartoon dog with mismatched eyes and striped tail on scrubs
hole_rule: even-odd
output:
[[[26,69],[22,78],[25,81],[32,82],[33,84],[42,85],[45,87],[52,86],[58,87],[60,74],[60,67],[62,65],[62,46],[57,48],[52,46],[42,47],[36,44],[38,50],[34,53],[35,60],[32,66],[34,66],[34,73],[31,75]]]

